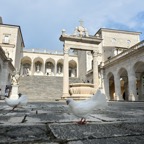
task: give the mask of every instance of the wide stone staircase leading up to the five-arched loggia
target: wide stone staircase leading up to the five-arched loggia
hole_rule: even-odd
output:
[[[78,82],[78,78],[70,78],[70,83]],[[19,81],[19,92],[27,95],[30,102],[60,100],[62,91],[63,77],[25,76]]]

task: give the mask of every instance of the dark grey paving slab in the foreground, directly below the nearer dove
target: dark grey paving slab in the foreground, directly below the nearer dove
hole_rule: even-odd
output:
[[[119,124],[50,124],[50,129],[56,138],[62,140],[107,138],[135,134],[130,130],[117,127],[117,125],[119,126]]]

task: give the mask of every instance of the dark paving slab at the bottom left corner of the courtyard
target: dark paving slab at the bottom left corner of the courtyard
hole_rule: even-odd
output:
[[[0,125],[0,142],[25,142],[49,140],[45,125]]]

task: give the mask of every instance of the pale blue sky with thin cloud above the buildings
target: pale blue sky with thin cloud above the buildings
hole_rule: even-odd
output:
[[[3,23],[19,25],[26,48],[61,50],[62,29],[72,34],[79,20],[89,34],[99,28],[142,32],[143,0],[0,0]]]

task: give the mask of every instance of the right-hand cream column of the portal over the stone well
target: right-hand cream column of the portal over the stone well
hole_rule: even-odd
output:
[[[94,88],[98,88],[99,86],[99,77],[98,77],[98,62],[97,62],[97,56],[98,56],[98,51],[94,50],[93,51],[93,83],[94,83]]]

